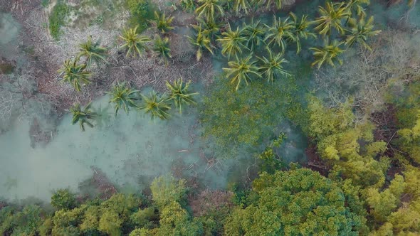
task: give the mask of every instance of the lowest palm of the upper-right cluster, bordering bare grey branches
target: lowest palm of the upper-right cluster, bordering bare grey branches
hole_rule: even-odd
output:
[[[315,56],[315,61],[312,63],[312,66],[317,65],[319,69],[324,63],[328,63],[332,67],[335,67],[335,62],[342,65],[342,60],[338,56],[345,51],[340,48],[340,45],[343,43],[332,41],[332,43],[326,44],[322,48],[310,48],[310,50],[313,50],[313,55]]]

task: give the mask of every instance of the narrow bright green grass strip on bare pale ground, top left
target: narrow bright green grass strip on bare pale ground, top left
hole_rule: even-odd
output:
[[[51,36],[58,40],[61,35],[61,26],[65,25],[65,18],[69,12],[68,6],[61,1],[57,1],[53,11],[51,11],[49,21],[49,29]]]

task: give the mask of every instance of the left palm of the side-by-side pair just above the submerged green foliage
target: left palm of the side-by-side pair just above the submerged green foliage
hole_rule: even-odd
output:
[[[258,73],[258,67],[254,64],[255,61],[251,61],[252,55],[248,55],[246,58],[241,60],[236,57],[236,61],[229,61],[229,68],[223,68],[226,72],[226,77],[231,78],[231,83],[236,83],[235,90],[238,90],[241,81],[245,81],[248,85],[248,80],[251,80],[251,75],[256,77],[261,77],[261,74]]]

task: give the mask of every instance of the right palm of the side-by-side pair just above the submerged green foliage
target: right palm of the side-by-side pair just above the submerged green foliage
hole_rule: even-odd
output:
[[[274,79],[277,79],[279,75],[290,76],[290,74],[283,69],[282,65],[283,63],[288,63],[288,60],[285,60],[281,53],[273,56],[270,48],[267,48],[267,51],[268,58],[257,58],[261,62],[260,71],[263,76],[267,77],[268,82],[273,82]]]

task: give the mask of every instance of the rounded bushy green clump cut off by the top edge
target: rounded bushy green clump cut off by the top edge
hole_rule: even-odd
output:
[[[149,27],[149,20],[154,18],[157,6],[148,0],[127,0],[127,9],[131,13],[130,26],[138,26],[137,31],[141,33]]]

